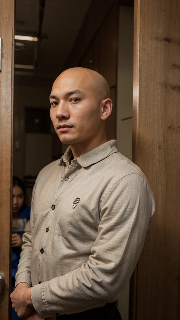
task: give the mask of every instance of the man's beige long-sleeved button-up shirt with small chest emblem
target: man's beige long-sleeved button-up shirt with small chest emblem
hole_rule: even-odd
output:
[[[33,286],[43,318],[117,300],[155,210],[146,177],[119,153],[116,140],[69,164],[71,154],[69,147],[37,177],[16,274],[16,285]]]

